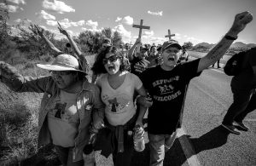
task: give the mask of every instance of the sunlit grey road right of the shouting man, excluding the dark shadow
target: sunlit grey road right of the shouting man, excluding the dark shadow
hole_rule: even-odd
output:
[[[232,102],[230,79],[222,70],[210,69],[190,83],[183,116],[183,129],[189,136],[183,137],[193,147],[192,162],[256,165],[256,112],[246,118],[249,132],[229,135],[219,127]]]

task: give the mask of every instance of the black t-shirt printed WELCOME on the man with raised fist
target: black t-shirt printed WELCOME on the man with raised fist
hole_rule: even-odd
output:
[[[172,71],[164,71],[160,66],[148,68],[141,75],[143,86],[153,100],[148,108],[148,133],[171,135],[183,107],[186,87],[197,72],[199,60],[192,60],[175,66]]]

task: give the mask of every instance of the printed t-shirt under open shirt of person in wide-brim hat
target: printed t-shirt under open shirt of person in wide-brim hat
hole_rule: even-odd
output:
[[[54,100],[50,106],[48,126],[53,144],[56,146],[74,146],[79,129],[77,95],[61,90],[60,100]]]

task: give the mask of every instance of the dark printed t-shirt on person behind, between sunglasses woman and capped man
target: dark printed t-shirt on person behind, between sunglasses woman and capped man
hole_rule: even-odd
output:
[[[131,73],[140,77],[140,74],[148,68],[149,61],[146,59],[140,59],[138,57],[134,57],[133,60],[130,60],[131,63]]]

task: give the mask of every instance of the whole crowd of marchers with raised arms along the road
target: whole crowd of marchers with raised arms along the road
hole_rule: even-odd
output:
[[[238,34],[253,20],[252,14],[236,14],[230,30],[206,56],[189,60],[175,40],[162,45],[142,44],[140,38],[115,47],[108,38],[96,54],[93,66],[66,30],[67,50],[61,51],[35,26],[40,37],[55,52],[50,65],[38,64],[50,76],[24,77],[14,66],[0,61],[1,82],[15,92],[44,93],[38,116],[38,146],[52,143],[62,165],[96,165],[94,155],[84,155],[91,133],[97,133],[94,150],[113,155],[113,164],[131,165],[134,149],[143,151],[143,117],[148,110],[148,140],[151,166],[163,165],[165,152],[176,139],[186,89],[194,77],[222,58]],[[222,125],[231,133],[248,130],[242,123],[255,109],[256,55],[248,57],[247,71],[232,80],[234,103]],[[88,81],[89,70],[93,72]],[[249,79],[249,83],[240,80]],[[236,128],[233,123],[236,123]],[[137,137],[135,137],[137,135]],[[137,144],[140,145],[137,145]],[[135,148],[140,146],[138,148]],[[92,154],[94,154],[92,152]]]

